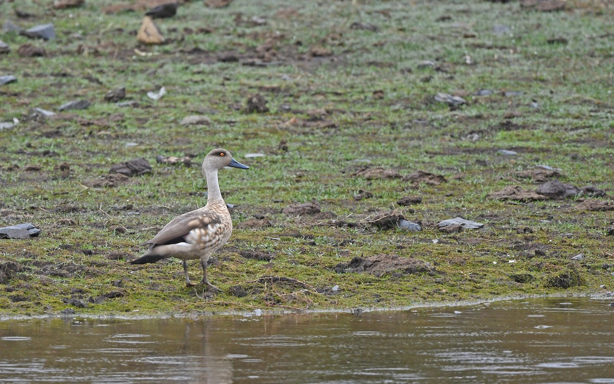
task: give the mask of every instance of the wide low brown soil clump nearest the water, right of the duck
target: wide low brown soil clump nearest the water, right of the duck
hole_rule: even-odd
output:
[[[376,256],[354,257],[349,263],[335,265],[336,273],[371,273],[375,276],[383,276],[392,273],[411,275],[412,273],[428,273],[435,275],[437,270],[429,262],[424,262],[413,257],[401,257],[397,255],[379,254]]]

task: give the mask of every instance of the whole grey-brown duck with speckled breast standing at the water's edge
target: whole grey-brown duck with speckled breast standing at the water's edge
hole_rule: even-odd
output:
[[[230,213],[217,181],[217,170],[223,167],[249,169],[247,165],[233,159],[225,149],[209,152],[203,161],[203,175],[207,179],[207,205],[171,220],[151,240],[141,244],[149,245],[149,249],[130,264],[153,263],[168,257],[177,257],[182,260],[185,283],[187,286],[193,286],[195,284],[188,276],[187,260],[200,259],[203,267],[201,283],[219,291],[219,288],[207,279],[207,261],[212,253],[228,241],[232,232]]]

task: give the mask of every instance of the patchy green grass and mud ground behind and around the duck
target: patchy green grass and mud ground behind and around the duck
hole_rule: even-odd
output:
[[[143,44],[161,2],[0,1],[0,227],[41,230],[0,239],[2,315],[611,294],[607,2],[184,1]],[[251,169],[204,292],[128,262],[214,147]]]

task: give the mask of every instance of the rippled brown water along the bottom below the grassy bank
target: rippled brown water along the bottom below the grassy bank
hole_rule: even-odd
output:
[[[0,383],[614,383],[612,300],[0,321]]]

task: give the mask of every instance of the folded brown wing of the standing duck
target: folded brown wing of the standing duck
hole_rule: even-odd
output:
[[[175,217],[152,239],[145,241],[141,245],[168,245],[182,243],[185,237],[198,229],[206,232],[216,233],[217,227],[222,224],[222,216],[211,210],[195,210]]]

